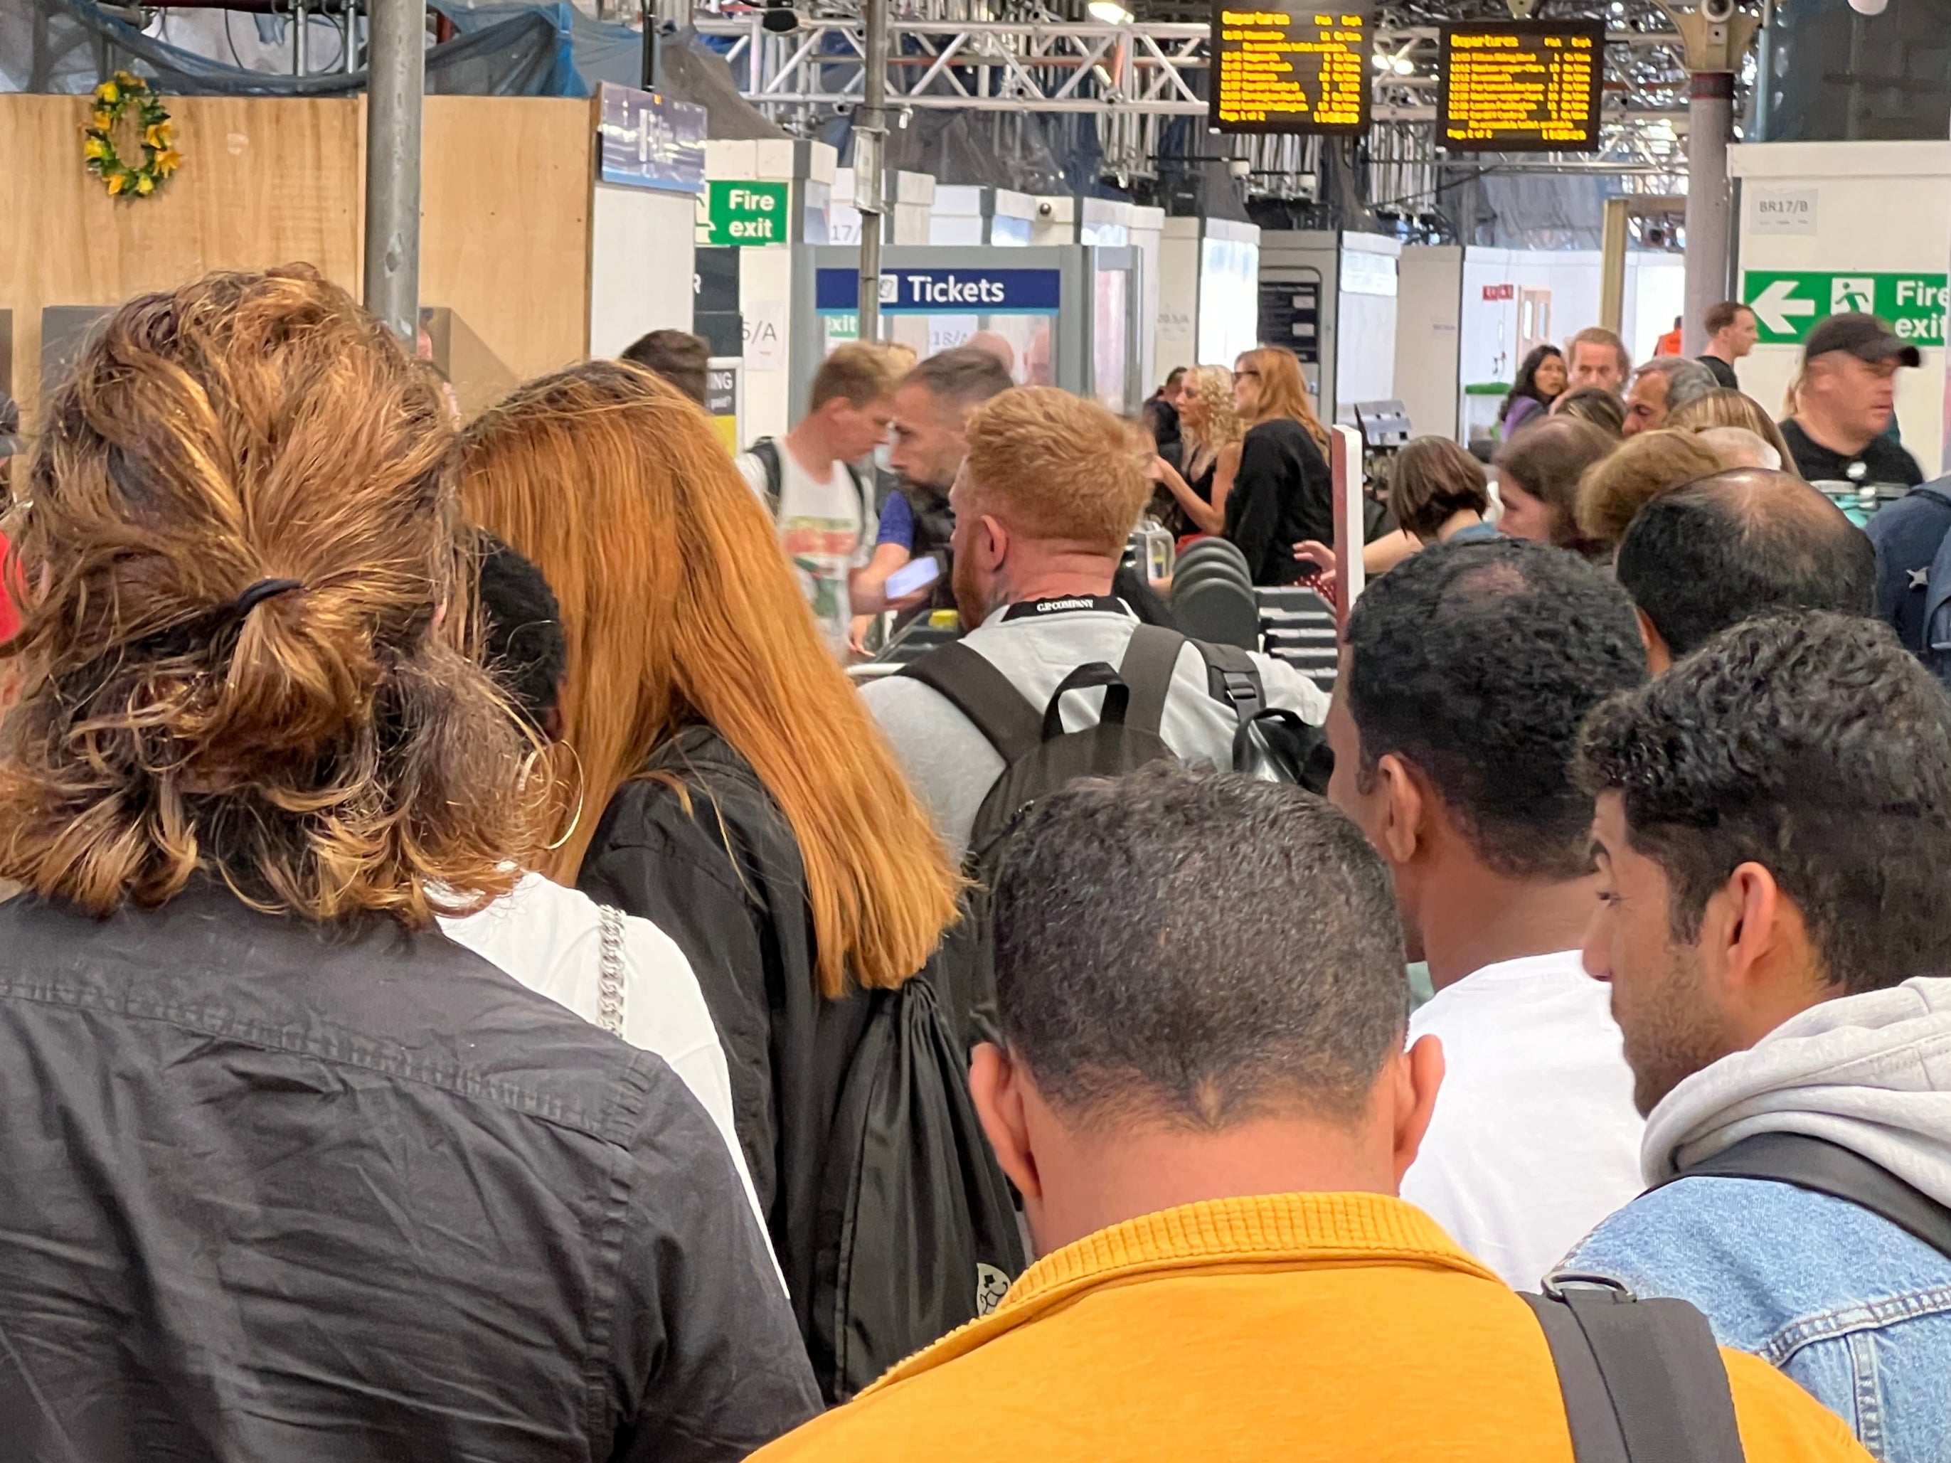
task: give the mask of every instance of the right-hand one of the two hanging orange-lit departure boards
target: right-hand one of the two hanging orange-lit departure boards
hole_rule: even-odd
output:
[[[1450,152],[1598,152],[1604,82],[1604,21],[1444,25],[1436,140]]]

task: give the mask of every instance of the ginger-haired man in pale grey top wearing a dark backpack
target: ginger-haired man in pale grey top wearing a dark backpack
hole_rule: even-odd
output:
[[[1137,616],[1112,597],[1124,542],[1151,494],[1128,429],[1095,402],[1052,386],[1003,392],[968,421],[968,458],[950,492],[960,644],[1042,710],[1079,665],[1120,665]],[[1290,665],[1253,657],[1270,706],[1321,724],[1327,698]],[[1003,774],[989,739],[933,687],[905,675],[862,691],[950,858],[968,850],[983,798]],[[1095,726],[1098,689],[1063,700],[1063,726]],[[1184,646],[1159,733],[1180,761],[1233,765],[1235,710]]]

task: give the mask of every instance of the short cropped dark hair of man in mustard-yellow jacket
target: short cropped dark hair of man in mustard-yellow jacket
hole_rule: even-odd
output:
[[[1395,888],[1292,784],[1153,763],[1024,821],[995,891],[1003,1040],[1073,1118],[1354,1118],[1403,1049]]]

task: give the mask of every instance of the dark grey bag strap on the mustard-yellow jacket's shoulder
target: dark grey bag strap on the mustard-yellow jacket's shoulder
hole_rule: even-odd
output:
[[[1574,1274],[1524,1301],[1559,1369],[1576,1463],[1744,1463],[1727,1364],[1692,1305]]]

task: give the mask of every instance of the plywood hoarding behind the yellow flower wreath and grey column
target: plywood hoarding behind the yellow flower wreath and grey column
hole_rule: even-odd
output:
[[[111,199],[84,172],[88,105],[0,96],[12,224],[0,308],[12,310],[14,390],[29,425],[49,306],[119,304],[211,269],[291,261],[359,293],[363,98],[170,98],[185,162],[148,199]],[[593,137],[587,99],[425,101],[419,297],[464,320],[498,380],[587,349]],[[472,382],[455,386],[464,408],[486,406]]]

